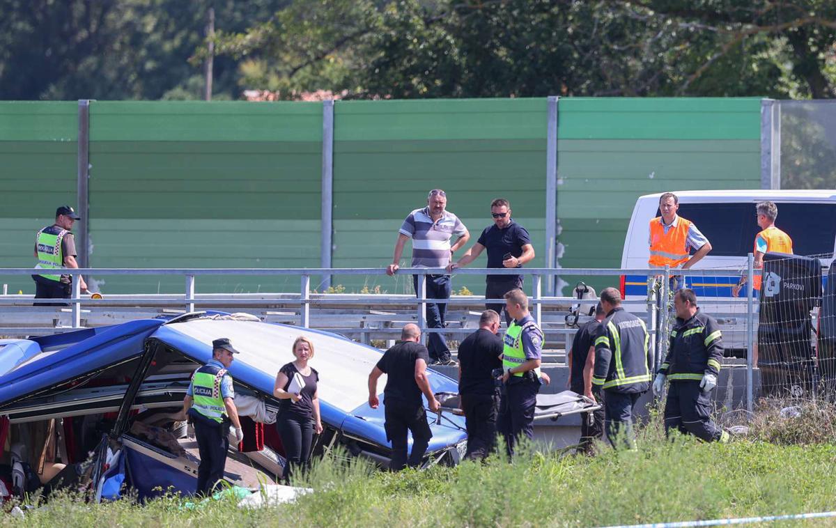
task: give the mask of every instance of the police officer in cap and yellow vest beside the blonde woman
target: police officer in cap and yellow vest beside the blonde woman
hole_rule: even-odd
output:
[[[235,427],[238,444],[244,439],[241,422],[235,408],[232,376],[227,368],[232,364],[232,348],[227,338],[212,341],[212,360],[198,368],[191,376],[191,384],[183,399],[181,419],[188,414],[195,424],[195,439],[201,464],[197,468],[197,493],[208,495],[223,479],[229,449],[229,424]]]

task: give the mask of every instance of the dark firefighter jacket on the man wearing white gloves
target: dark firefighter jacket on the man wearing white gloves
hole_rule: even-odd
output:
[[[714,317],[697,309],[687,321],[676,317],[665,362],[659,372],[670,381],[701,380],[703,374],[720,373],[723,338]]]

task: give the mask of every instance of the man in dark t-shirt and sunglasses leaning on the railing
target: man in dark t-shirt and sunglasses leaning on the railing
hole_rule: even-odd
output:
[[[497,198],[492,201],[491,216],[493,216],[493,225],[482,231],[477,243],[473,244],[458,261],[447,265],[448,272],[470,264],[485,249],[487,249],[487,267],[523,267],[523,264],[534,258],[531,237],[528,236],[525,227],[512,220],[511,204],[507,200]],[[513,289],[523,289],[522,275],[488,275],[485,281],[486,299],[502,299]],[[502,313],[505,302],[487,302],[485,307]],[[505,312],[505,322],[507,326],[511,326],[511,315],[508,312]]]

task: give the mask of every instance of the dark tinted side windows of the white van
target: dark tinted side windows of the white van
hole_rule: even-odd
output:
[[[796,255],[833,252],[836,204],[781,203],[775,225],[793,239]],[[657,212],[658,214],[658,212]],[[713,256],[745,256],[754,248],[757,226],[754,202],[682,204],[679,214],[694,222],[711,241]]]

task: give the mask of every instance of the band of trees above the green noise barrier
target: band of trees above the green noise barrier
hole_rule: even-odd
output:
[[[0,0],[0,98],[831,98],[830,0]],[[191,58],[191,60],[189,60]]]

